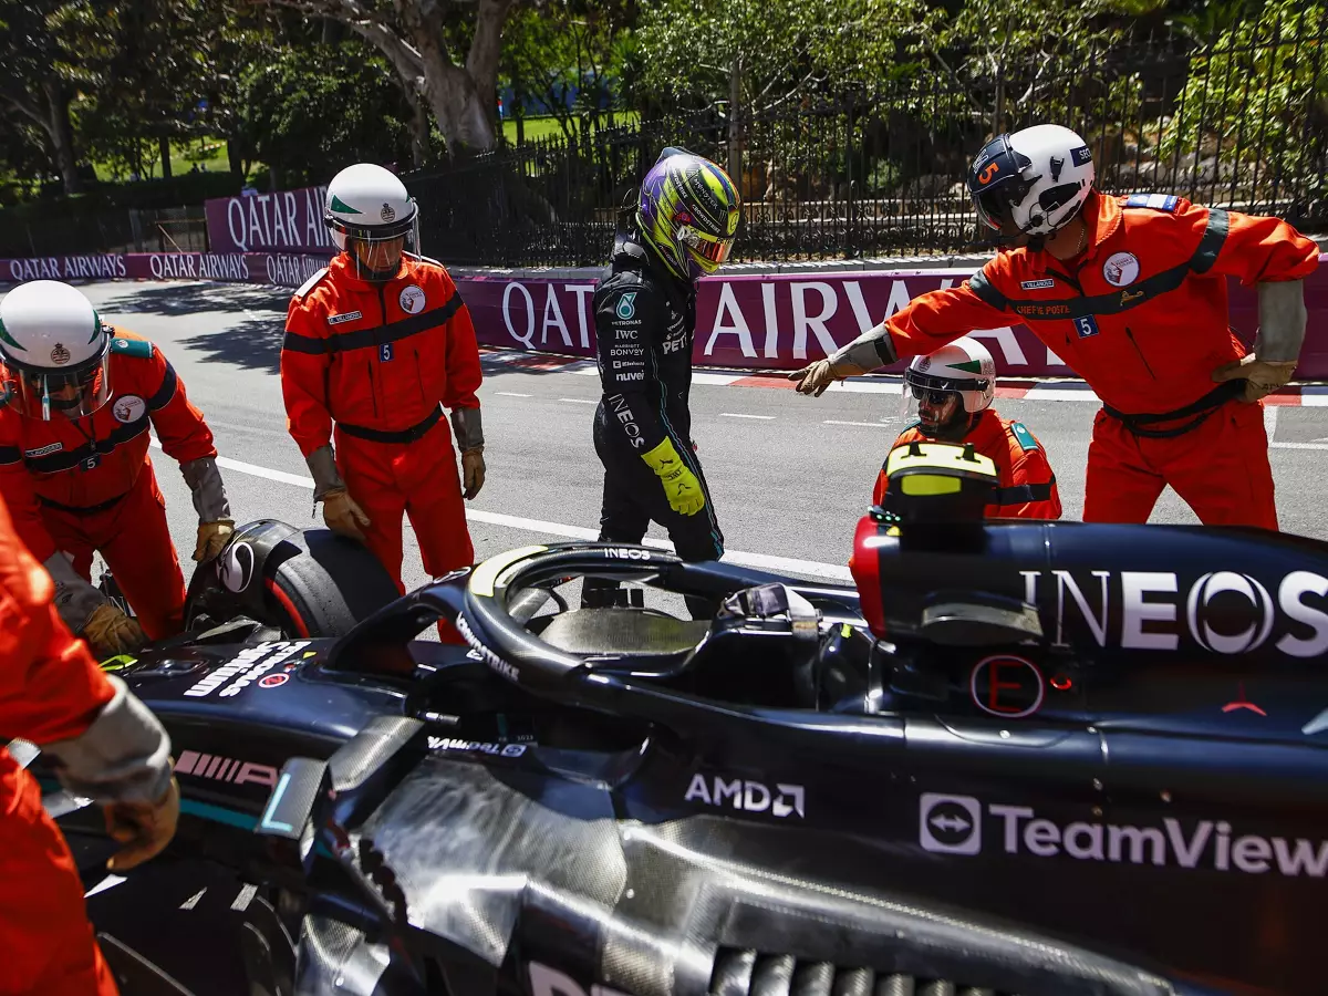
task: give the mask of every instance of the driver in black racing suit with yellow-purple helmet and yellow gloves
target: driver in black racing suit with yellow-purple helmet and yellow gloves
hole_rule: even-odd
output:
[[[603,397],[595,452],[604,465],[599,539],[640,543],[651,521],[684,560],[717,560],[724,534],[692,442],[696,282],[729,258],[740,199],[709,159],[667,147],[641,182],[592,301]],[[582,606],[615,604],[616,582],[587,578]],[[708,603],[689,599],[692,615]]]

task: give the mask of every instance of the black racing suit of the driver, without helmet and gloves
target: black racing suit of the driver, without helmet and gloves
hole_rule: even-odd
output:
[[[640,543],[653,519],[668,530],[684,560],[717,560],[724,534],[692,444],[688,410],[696,288],[672,276],[639,235],[619,235],[595,290],[594,311],[604,388],[595,409],[595,452],[604,465],[599,538]],[[695,515],[673,511],[659,477],[641,459],[665,437],[701,482],[705,507]],[[592,596],[594,590],[604,586],[587,579],[583,604],[611,602],[608,595]],[[699,608],[700,603],[692,607],[693,615]]]

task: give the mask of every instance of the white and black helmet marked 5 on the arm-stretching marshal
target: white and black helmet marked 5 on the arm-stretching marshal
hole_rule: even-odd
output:
[[[1060,125],[1036,125],[984,145],[968,170],[968,193],[988,228],[1009,236],[1009,222],[1045,238],[1074,218],[1094,178],[1082,138]]]

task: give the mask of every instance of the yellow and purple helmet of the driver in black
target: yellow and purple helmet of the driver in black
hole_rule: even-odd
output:
[[[728,260],[741,205],[728,173],[669,146],[641,181],[636,223],[675,276],[697,280]]]

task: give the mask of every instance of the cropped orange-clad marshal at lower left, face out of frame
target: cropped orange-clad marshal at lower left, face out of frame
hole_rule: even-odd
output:
[[[170,738],[60,622],[50,575],[0,502],[0,744],[41,748],[73,795],[104,806],[122,872],[170,843],[179,815]],[[0,996],[116,996],[84,887],[37,781],[0,746]]]

